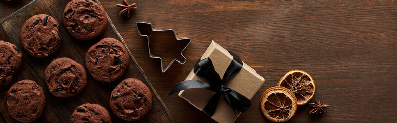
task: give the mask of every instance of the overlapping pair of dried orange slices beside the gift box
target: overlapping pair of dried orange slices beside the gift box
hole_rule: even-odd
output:
[[[263,93],[261,111],[270,121],[288,121],[295,115],[298,105],[307,104],[313,98],[314,91],[314,80],[308,73],[302,70],[289,71],[276,87]]]

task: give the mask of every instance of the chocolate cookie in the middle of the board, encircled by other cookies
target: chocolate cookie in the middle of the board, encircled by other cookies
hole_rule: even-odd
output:
[[[53,60],[44,74],[48,89],[57,97],[75,96],[87,86],[84,67],[66,57]]]

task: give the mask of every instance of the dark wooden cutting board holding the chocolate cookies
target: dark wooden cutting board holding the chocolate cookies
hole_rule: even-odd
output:
[[[13,77],[12,83],[8,86],[0,86],[0,113],[6,120],[5,122],[18,122],[17,120],[13,119],[7,111],[6,92],[10,89],[12,84],[24,79],[36,81],[40,86],[43,87],[46,95],[46,108],[44,109],[42,116],[34,122],[69,122],[69,118],[76,107],[84,103],[97,103],[105,107],[111,114],[112,122],[127,122],[115,116],[109,107],[111,91],[118,83],[120,83],[121,80],[125,78],[140,79],[143,81],[143,83],[148,85],[152,91],[152,109],[144,119],[141,119],[137,122],[175,122],[160,96],[148,81],[147,76],[143,73],[142,68],[137,64],[137,61],[130,50],[128,50],[130,55],[129,67],[122,78],[116,80],[115,82],[101,83],[93,79],[87,71],[87,88],[81,94],[74,97],[60,98],[55,97],[50,93],[45,83],[44,70],[46,69],[47,65],[50,64],[52,59],[57,57],[68,57],[84,66],[84,58],[88,48],[98,42],[100,39],[106,37],[118,39],[124,44],[124,46],[127,47],[125,41],[114,27],[109,16],[107,29],[101,36],[89,41],[81,41],[72,37],[63,27],[62,22],[60,21],[62,20],[63,10],[68,2],[69,0],[33,0],[0,22],[0,40],[5,40],[15,44],[19,49],[21,49],[23,56],[21,69],[19,69],[19,71]],[[99,3],[98,1],[96,2]],[[23,50],[23,47],[19,42],[19,31],[21,30],[22,25],[28,18],[36,14],[50,15],[54,17],[59,24],[61,24],[61,28],[59,28],[62,36],[61,47],[54,54],[51,54],[46,58],[35,58],[30,56]]]

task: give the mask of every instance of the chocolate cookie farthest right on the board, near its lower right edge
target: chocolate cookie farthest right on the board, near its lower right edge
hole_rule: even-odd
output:
[[[142,81],[127,78],[112,91],[110,109],[127,121],[140,120],[152,107],[152,93]]]

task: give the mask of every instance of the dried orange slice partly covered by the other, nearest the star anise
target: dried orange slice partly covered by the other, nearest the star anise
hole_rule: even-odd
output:
[[[307,104],[313,98],[315,85],[311,76],[302,70],[292,70],[280,79],[277,86],[291,90],[298,101],[298,105]]]

